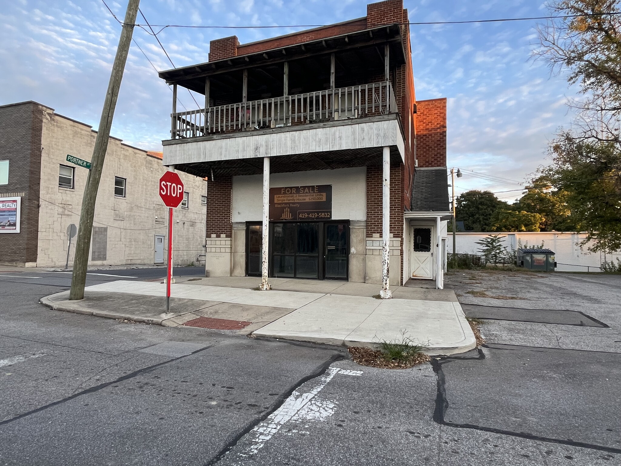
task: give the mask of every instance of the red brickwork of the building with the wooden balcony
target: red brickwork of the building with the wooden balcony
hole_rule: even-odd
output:
[[[386,24],[399,24],[405,50],[406,63],[391,68],[389,80],[401,117],[404,133],[404,163],[391,167],[391,225],[393,237],[401,239],[401,265],[403,262],[404,210],[409,210],[414,180],[415,156],[419,167],[446,166],[446,99],[416,101],[414,75],[412,71],[412,50],[410,47],[409,16],[403,8],[403,0],[386,0],[367,6],[366,17],[341,24],[320,27],[273,39],[240,45],[237,37],[212,40],[209,61],[273,50],[297,43],[324,39],[358,30]],[[369,82],[384,81],[382,73],[369,78]],[[414,106],[417,114],[414,114]],[[416,152],[416,153],[415,153]],[[381,151],[378,155],[381,161]],[[366,169],[366,236],[382,233],[382,168]],[[231,180],[216,180],[209,183],[207,194],[207,237],[231,234]],[[397,264],[393,263],[393,267]],[[401,267],[402,270],[402,267]]]

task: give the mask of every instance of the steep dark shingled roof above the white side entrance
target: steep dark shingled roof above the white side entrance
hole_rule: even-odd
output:
[[[412,212],[448,212],[446,167],[417,168],[412,188]]]

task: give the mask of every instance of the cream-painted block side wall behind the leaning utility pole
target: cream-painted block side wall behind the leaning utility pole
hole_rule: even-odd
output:
[[[64,267],[67,254],[66,229],[79,226],[82,196],[88,170],[75,166],[74,188],[58,186],[59,166],[70,154],[91,160],[96,132],[90,126],[55,114],[48,109],[43,116],[42,158],[40,168],[39,267]],[[165,236],[168,247],[168,209],[158,195],[158,180],[166,171],[160,158],[111,138],[97,193],[94,226],[107,227],[106,260],[89,260],[89,265],[152,264],[155,235]],[[126,181],[125,198],[114,195],[114,178]],[[188,208],[177,208],[173,226],[173,264],[196,263],[204,254],[205,206],[201,196],[206,183],[201,178],[179,173],[189,193]],[[92,244],[91,244],[92,247]],[[75,248],[70,250],[73,264]],[[91,258],[91,255],[89,255]]]

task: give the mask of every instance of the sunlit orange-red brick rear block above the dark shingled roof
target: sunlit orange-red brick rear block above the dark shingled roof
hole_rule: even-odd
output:
[[[416,116],[419,167],[446,167],[446,99],[420,100]]]

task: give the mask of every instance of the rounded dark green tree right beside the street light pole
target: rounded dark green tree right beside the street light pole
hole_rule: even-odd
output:
[[[491,191],[466,191],[455,200],[456,219],[463,221],[466,231],[492,231],[492,217],[509,204],[499,200]]]

